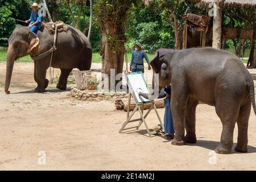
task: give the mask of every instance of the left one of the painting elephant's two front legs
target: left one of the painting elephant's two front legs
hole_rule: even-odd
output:
[[[181,84],[182,85],[182,84]],[[174,119],[174,130],[175,137],[172,140],[172,144],[181,146],[185,144],[185,110],[188,102],[188,95],[185,91],[186,89],[177,85],[175,89],[172,90],[172,118]]]

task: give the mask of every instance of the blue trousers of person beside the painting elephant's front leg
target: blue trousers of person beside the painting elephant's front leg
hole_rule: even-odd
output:
[[[174,122],[172,120],[172,111],[171,111],[171,98],[164,99],[164,132],[166,134],[174,134]]]

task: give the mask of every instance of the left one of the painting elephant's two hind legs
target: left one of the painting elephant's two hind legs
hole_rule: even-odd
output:
[[[215,151],[218,154],[230,154],[233,146],[234,127],[237,122],[240,105],[239,101],[232,100],[230,97],[221,97],[222,101],[216,103],[216,113],[221,119],[222,133],[220,144],[216,147]]]

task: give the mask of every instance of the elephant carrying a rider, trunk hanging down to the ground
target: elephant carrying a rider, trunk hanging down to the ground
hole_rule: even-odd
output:
[[[18,26],[9,38],[9,48],[6,61],[6,80],[5,92],[9,94],[11,75],[13,72],[14,61],[19,57],[30,55],[35,57],[49,51],[53,47],[54,35],[49,33],[46,27],[38,31],[38,39],[35,34],[29,32],[28,27]],[[60,68],[60,78],[57,88],[65,90],[67,88],[67,78],[73,68],[81,71],[89,70],[92,64],[92,47],[89,40],[82,32],[72,26],[67,25],[67,31],[60,32],[57,38],[55,59],[52,61],[53,68]],[[35,92],[46,92],[48,80],[46,72],[49,68],[51,53],[34,61],[34,79],[38,86]]]

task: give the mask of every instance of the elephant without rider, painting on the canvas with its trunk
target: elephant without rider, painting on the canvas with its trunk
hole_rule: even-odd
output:
[[[254,82],[237,56],[213,48],[159,49],[150,64],[159,73],[159,88],[172,87],[172,144],[196,143],[196,106],[201,101],[215,106],[222,122],[221,141],[215,151],[230,154],[237,123],[235,150],[247,152],[251,103],[256,114]]]

